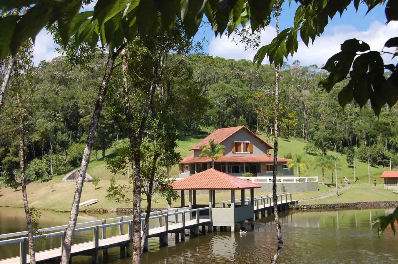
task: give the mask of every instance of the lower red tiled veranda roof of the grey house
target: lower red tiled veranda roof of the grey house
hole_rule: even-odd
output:
[[[287,158],[278,158],[278,162],[288,162]],[[183,158],[181,163],[198,163],[198,162],[211,162],[211,158],[193,157],[193,154]],[[214,162],[273,162],[273,156],[222,156]]]

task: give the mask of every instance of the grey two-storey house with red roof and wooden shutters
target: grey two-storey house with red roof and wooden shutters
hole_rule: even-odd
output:
[[[211,158],[199,158],[203,145],[215,143],[225,146],[224,156],[214,161],[214,169],[232,176],[242,176],[250,172],[254,177],[272,176],[273,156],[268,143],[259,138],[245,126],[220,128],[205,137],[196,145],[189,148],[193,153],[180,162],[179,177],[187,177],[194,173],[203,172],[212,166]],[[278,175],[293,176],[293,168],[287,168],[289,159],[278,158]]]

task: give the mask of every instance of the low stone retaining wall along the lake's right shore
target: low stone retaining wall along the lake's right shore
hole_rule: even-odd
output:
[[[377,209],[397,207],[398,201],[382,201],[382,202],[342,202],[334,204],[296,204],[289,205],[290,210],[311,210],[311,211],[332,211],[344,209]]]

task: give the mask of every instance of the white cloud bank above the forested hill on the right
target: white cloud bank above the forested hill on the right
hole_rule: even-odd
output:
[[[310,44],[309,47],[305,46],[300,40],[297,53],[294,54],[293,59],[289,56],[288,62],[291,63],[294,60],[299,60],[302,66],[309,66],[312,64],[321,66],[325,64],[328,58],[340,51],[340,44],[344,40],[353,38],[367,42],[371,50],[380,51],[388,39],[396,36],[397,29],[398,22],[396,21],[392,21],[388,23],[388,25],[374,21],[366,31],[359,31],[352,25],[339,25],[331,28],[328,31],[330,33],[317,37],[314,44]],[[270,26],[265,28],[261,34],[260,46],[269,44],[275,35],[275,27]],[[394,52],[394,49],[389,50],[384,48],[384,51]],[[210,41],[209,54],[227,59],[253,60],[256,51],[249,50],[245,52],[243,44],[239,43],[236,45],[228,40],[227,37],[222,36],[222,38],[217,39],[213,37]],[[390,61],[392,57],[390,54],[384,54],[382,57],[385,63],[396,64],[398,62],[398,58]],[[265,59],[263,63],[269,62]]]

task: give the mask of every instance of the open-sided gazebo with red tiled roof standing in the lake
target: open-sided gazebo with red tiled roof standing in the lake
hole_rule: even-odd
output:
[[[173,190],[181,191],[181,207],[185,206],[185,191],[188,191],[188,206],[190,209],[211,207],[213,226],[230,226],[235,231],[235,224],[240,223],[244,228],[244,221],[254,224],[254,188],[261,185],[238,179],[234,176],[219,172],[213,168],[200,173],[192,174],[184,179],[174,181]],[[250,189],[250,203],[245,204],[245,190]],[[196,191],[209,190],[209,204],[197,204]],[[228,208],[216,207],[216,190],[230,190],[231,200]],[[241,191],[241,202],[235,202],[235,191]],[[192,199],[193,198],[193,199]]]

